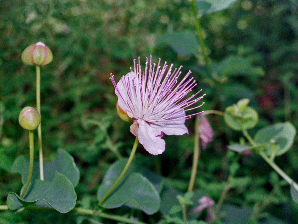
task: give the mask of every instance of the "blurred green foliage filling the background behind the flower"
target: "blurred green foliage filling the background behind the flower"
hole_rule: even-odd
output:
[[[93,208],[99,183],[117,160],[115,152],[130,153],[134,136],[130,124],[117,116],[109,77],[113,73],[119,80],[138,56],[142,62],[151,54],[156,61],[160,57],[176,67],[183,65],[184,73],[191,69],[197,90],[207,94],[202,110],[224,111],[249,98],[260,115],[251,134],[282,121],[297,129],[297,0],[238,0],[227,10],[202,12],[200,19],[212,79],[203,66],[189,1],[1,0],[0,204],[5,204],[9,191],[21,189],[20,176],[10,168],[18,155],[29,152],[27,132],[17,118],[24,106],[35,106],[35,68],[22,64],[21,52],[38,41],[54,55],[51,64],[41,67],[44,157],[52,160],[58,148],[74,156],[81,173],[76,187],[79,206]],[[232,174],[233,186],[225,200],[226,206],[234,206],[230,211],[241,217],[250,209],[253,224],[297,223],[297,204],[285,182],[259,156],[227,151],[226,145],[239,141],[240,132],[226,127],[222,117],[208,118],[215,136],[201,152],[198,189],[217,202]],[[180,191],[187,189],[190,176],[193,123],[186,121],[189,135],[164,136],[162,155],[149,155],[141,146],[136,155],[139,164],[166,178],[165,186]],[[292,150],[277,158],[296,182],[297,157],[296,136]],[[113,212],[122,215],[129,210]],[[161,218],[161,213],[134,215],[149,223]],[[0,215],[1,224],[74,222],[89,223],[71,212]],[[232,222],[237,221],[218,220]]]

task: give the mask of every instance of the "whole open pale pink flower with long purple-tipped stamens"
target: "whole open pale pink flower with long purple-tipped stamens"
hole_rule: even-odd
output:
[[[149,63],[149,65],[148,65]],[[134,70],[123,75],[116,84],[111,75],[115,93],[118,97],[118,114],[121,111],[127,114],[131,125],[131,133],[138,136],[139,142],[153,155],[164,152],[166,135],[183,135],[188,133],[184,125],[185,120],[201,112],[186,115],[186,111],[196,109],[192,106],[204,95],[197,97],[198,91],[187,97],[187,94],[196,86],[195,80],[189,78],[191,71],[178,81],[181,67],[172,71],[173,64],[168,67],[167,62],[161,65],[152,64],[152,57],[146,59],[145,71],[142,71],[140,58],[138,64],[134,60]],[[192,107],[191,107],[192,106]],[[120,116],[121,117],[121,116]],[[127,120],[127,119],[125,119]]]

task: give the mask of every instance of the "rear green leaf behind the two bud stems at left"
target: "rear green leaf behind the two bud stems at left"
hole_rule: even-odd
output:
[[[29,158],[24,155],[18,156],[13,162],[11,168],[12,172],[20,173],[22,176],[22,183],[25,184],[28,177],[29,171]],[[68,152],[63,149],[58,149],[57,158],[51,162],[44,163],[44,178],[45,180],[51,181],[55,175],[56,171],[60,174],[66,176],[73,186],[77,186],[79,183],[80,172],[75,165],[74,159]],[[32,180],[39,178],[39,160],[34,160]]]

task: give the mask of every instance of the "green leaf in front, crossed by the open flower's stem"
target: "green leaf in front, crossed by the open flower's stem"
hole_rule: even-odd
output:
[[[97,199],[105,195],[117,178],[111,177],[103,181],[97,191]],[[153,184],[139,173],[132,173],[100,206],[104,208],[118,208],[126,204],[129,207],[141,209],[146,214],[154,214],[159,210],[160,197]]]

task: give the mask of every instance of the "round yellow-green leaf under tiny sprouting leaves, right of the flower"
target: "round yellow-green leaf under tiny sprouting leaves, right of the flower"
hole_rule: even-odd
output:
[[[224,113],[226,124],[236,130],[250,129],[256,126],[259,121],[258,113],[249,106],[246,106],[241,113],[235,110],[235,107],[228,106]]]

